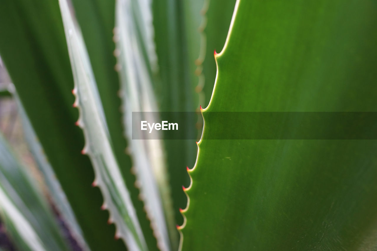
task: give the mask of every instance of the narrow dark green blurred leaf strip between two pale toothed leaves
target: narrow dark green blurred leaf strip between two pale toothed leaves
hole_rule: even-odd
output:
[[[115,25],[115,0],[92,1],[73,0],[75,17],[81,28],[86,49],[89,54],[98,92],[103,105],[109,134],[113,143],[113,152],[119,163],[123,179],[126,181],[131,200],[143,230],[149,249],[156,248],[156,239],[150,228],[150,222],[143,210],[144,204],[138,199],[139,190],[133,184],[135,176],[130,174],[132,161],[128,154],[124,127],[122,124],[120,84],[115,70],[116,58],[113,37]]]

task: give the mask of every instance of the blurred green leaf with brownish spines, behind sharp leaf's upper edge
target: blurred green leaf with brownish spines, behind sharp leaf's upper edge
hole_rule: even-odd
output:
[[[219,51],[225,43],[235,2],[236,0],[183,2],[189,69],[192,88],[196,93],[196,109],[207,106],[211,98],[216,77],[213,51]],[[199,124],[202,124],[201,118],[198,120]]]

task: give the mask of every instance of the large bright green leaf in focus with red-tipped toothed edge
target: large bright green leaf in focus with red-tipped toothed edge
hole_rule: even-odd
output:
[[[211,112],[376,112],[376,22],[369,0],[237,2],[202,112],[183,250],[375,249],[376,140],[211,140],[265,127]]]

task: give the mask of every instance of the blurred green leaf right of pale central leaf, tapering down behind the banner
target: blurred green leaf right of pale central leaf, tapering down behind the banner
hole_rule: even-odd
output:
[[[195,2],[196,3],[196,2]],[[193,4],[195,4],[193,3]],[[197,102],[194,101],[192,76],[189,70],[189,57],[186,44],[184,24],[184,3],[176,0],[158,0],[152,3],[153,26],[155,30],[156,53],[158,57],[158,75],[155,77],[161,112],[193,112]],[[193,23],[195,26],[196,24]],[[194,28],[196,29],[196,27]],[[194,38],[196,40],[196,38]],[[165,113],[164,121],[184,121],[189,130],[182,131],[181,138],[195,138],[197,117],[192,113]],[[185,116],[189,115],[189,116]],[[189,184],[186,167],[195,162],[195,142],[191,140],[165,140],[166,159],[170,185],[172,189],[175,220],[182,223],[179,208],[186,205],[187,199],[182,191],[182,184]],[[174,246],[173,246],[174,248]]]

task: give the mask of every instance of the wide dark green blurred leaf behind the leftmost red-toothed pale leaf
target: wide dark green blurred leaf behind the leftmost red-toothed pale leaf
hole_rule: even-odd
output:
[[[31,124],[92,250],[117,250],[114,227],[103,202],[89,158],[80,154],[83,133],[74,125],[77,110],[72,71],[58,2],[5,1],[0,8],[0,54]],[[95,219],[95,220],[93,220]]]

